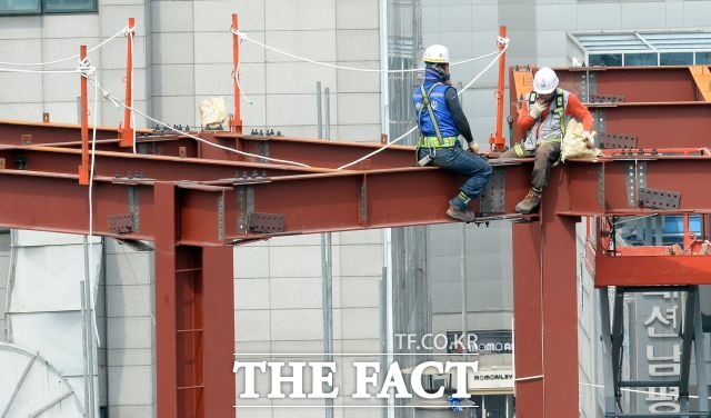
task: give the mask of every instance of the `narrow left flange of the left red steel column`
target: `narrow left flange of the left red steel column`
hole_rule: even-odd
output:
[[[176,186],[157,182],[156,203],[156,381],[158,418],[178,417],[176,324]]]

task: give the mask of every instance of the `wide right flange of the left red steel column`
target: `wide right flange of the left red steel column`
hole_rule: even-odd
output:
[[[234,417],[232,247],[202,248],[204,416]]]

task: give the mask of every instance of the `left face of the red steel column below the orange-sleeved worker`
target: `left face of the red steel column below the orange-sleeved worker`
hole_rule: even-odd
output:
[[[513,223],[514,370],[519,418],[543,417],[540,251],[540,223]]]

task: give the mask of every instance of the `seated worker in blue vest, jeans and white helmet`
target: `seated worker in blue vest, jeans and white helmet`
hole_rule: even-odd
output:
[[[419,165],[432,163],[467,176],[459,195],[450,199],[447,215],[471,222],[475,213],[469,210],[469,202],[477,199],[487,186],[491,166],[477,155],[479,146],[471,135],[457,90],[451,86],[449,50],[441,44],[430,46],[422,60],[424,82],[415,88],[412,97],[420,128],[417,151]],[[471,152],[462,148],[460,135]]]

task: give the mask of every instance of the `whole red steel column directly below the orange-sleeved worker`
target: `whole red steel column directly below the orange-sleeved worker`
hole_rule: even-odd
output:
[[[551,172],[551,185],[561,172]],[[564,187],[547,188],[541,220],[513,226],[515,396],[520,418],[577,417],[575,220],[555,215]],[[551,205],[545,205],[549,201]]]

